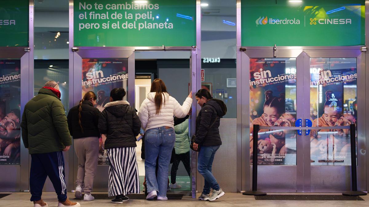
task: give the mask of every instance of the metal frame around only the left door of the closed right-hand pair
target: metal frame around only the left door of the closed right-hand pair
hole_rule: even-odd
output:
[[[242,190],[248,190],[249,187],[251,187],[251,183],[252,183],[252,166],[250,166],[250,159],[249,159],[249,154],[250,154],[250,149],[249,149],[249,143],[250,143],[250,131],[249,131],[249,127],[250,127],[250,115],[249,115],[249,111],[250,111],[250,90],[249,90],[249,80],[250,80],[250,58],[258,58],[258,57],[263,57],[263,58],[296,58],[296,70],[297,70],[297,80],[302,80],[303,79],[303,74],[302,74],[302,63],[303,63],[303,50],[301,48],[296,48],[296,49],[290,49],[290,50],[278,50],[277,51],[277,57],[274,57],[273,53],[273,49],[259,49],[259,48],[243,48],[242,49],[243,52],[241,52],[241,80],[242,84],[241,84],[241,114],[242,114],[242,122],[241,122],[241,126],[238,124],[237,126],[237,130],[241,131],[241,143],[242,143],[242,158],[244,159],[244,161],[242,161],[242,169],[244,170],[243,174],[245,175],[245,179],[241,179],[242,180],[242,185],[244,185],[245,183],[245,188]],[[300,71],[301,70],[301,71]],[[238,81],[241,82],[241,81]],[[303,86],[303,82],[302,81],[296,81],[296,88],[302,88]],[[297,117],[302,117],[302,104],[303,104],[303,99],[302,99],[302,94],[301,93],[297,93],[296,92],[296,116]],[[239,119],[239,117],[237,117],[237,119]],[[239,120],[238,120],[239,122]],[[242,127],[241,129],[239,129],[239,127]],[[302,148],[303,147],[303,143],[302,143],[302,136],[297,135],[296,137],[296,147],[297,148]],[[294,166],[273,166],[273,168],[271,168],[271,166],[258,166],[259,172],[268,172],[270,171],[270,173],[289,173],[292,176],[296,176],[296,180],[289,178],[285,178],[286,180],[283,179],[279,179],[278,181],[281,182],[279,183],[280,185],[278,185],[277,188],[270,188],[270,189],[263,189],[266,190],[267,192],[280,192],[280,187],[284,185],[290,186],[292,188],[290,189],[286,189],[286,192],[296,192],[296,191],[302,191],[302,187],[303,187],[303,165],[300,165],[300,163],[303,163],[302,159],[303,158],[303,154],[302,154],[302,150],[298,150],[297,154],[296,154],[296,165]],[[299,173],[300,172],[300,173]],[[259,176],[260,177],[260,176]],[[288,177],[288,176],[286,176]],[[244,178],[244,177],[243,177]],[[293,187],[295,186],[295,187]],[[301,190],[300,190],[301,189]]]

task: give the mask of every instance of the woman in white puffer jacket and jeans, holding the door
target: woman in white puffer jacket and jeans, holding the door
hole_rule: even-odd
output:
[[[147,183],[147,200],[158,196],[158,200],[167,200],[168,168],[172,150],[176,140],[174,116],[185,117],[190,111],[192,92],[181,106],[166,91],[164,82],[155,79],[150,93],[142,102],[138,111],[141,127],[145,130],[145,175]],[[155,175],[156,159],[158,160],[158,179]],[[157,193],[158,192],[158,193]]]

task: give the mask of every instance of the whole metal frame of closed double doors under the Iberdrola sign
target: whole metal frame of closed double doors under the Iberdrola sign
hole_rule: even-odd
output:
[[[250,58],[264,57],[264,58],[293,58],[296,57],[296,71],[297,71],[297,83],[296,83],[296,116],[297,118],[310,117],[310,101],[307,101],[307,97],[303,97],[303,94],[309,94],[308,100],[310,100],[310,57],[355,57],[357,59],[357,88],[365,88],[365,53],[361,52],[361,46],[350,46],[350,47],[279,47],[276,52],[276,57],[274,57],[273,47],[246,47],[239,48],[241,56],[241,64],[238,65],[241,71],[241,79],[243,80],[241,84],[241,119],[239,121],[237,130],[241,133],[241,145],[242,145],[242,157],[241,157],[241,174],[245,176],[246,179],[241,179],[242,190],[248,190],[251,187],[251,170],[249,159],[249,85],[247,84],[250,80],[249,74],[249,60]],[[239,77],[239,76],[238,76]],[[239,81],[240,82],[240,81]],[[365,112],[365,91],[357,90],[358,97],[358,111]],[[305,101],[304,101],[305,100]],[[308,103],[309,107],[305,107]],[[239,113],[238,113],[239,115]],[[304,116],[304,117],[303,117]],[[366,134],[366,122],[365,113],[358,114],[358,189],[365,190],[366,185],[366,145],[365,145],[365,134]],[[241,128],[241,129],[240,129]],[[327,170],[327,166],[310,166],[310,137],[299,136],[296,137],[296,147],[297,147],[297,157],[296,166],[259,166],[260,172],[271,171],[283,169],[283,172],[293,171],[296,168],[296,191],[297,192],[314,192],[311,189],[311,170],[319,170],[324,172]],[[299,150],[300,149],[300,150]],[[305,162],[304,162],[305,161]],[[302,163],[300,165],[300,163]],[[349,171],[349,166],[329,166],[331,170],[334,171]],[[265,169],[264,169],[265,168]],[[325,168],[325,169],[324,169]],[[244,178],[244,177],[243,177]],[[346,186],[347,187],[347,186]],[[348,186],[349,187],[349,186]],[[268,192],[278,192],[280,188],[273,189],[263,189]],[[293,189],[286,189],[285,192],[295,192]],[[341,191],[337,191],[341,192]]]

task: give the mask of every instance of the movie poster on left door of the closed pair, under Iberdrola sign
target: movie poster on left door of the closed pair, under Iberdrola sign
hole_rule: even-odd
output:
[[[296,121],[296,58],[250,59],[250,159],[253,124],[294,126]],[[296,130],[258,133],[259,165],[296,165]]]

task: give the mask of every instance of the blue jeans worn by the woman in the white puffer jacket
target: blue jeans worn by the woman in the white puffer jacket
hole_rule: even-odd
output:
[[[158,196],[166,196],[168,168],[176,134],[173,128],[159,127],[145,133],[145,175],[147,192],[158,191]],[[155,175],[156,159],[158,175]]]

